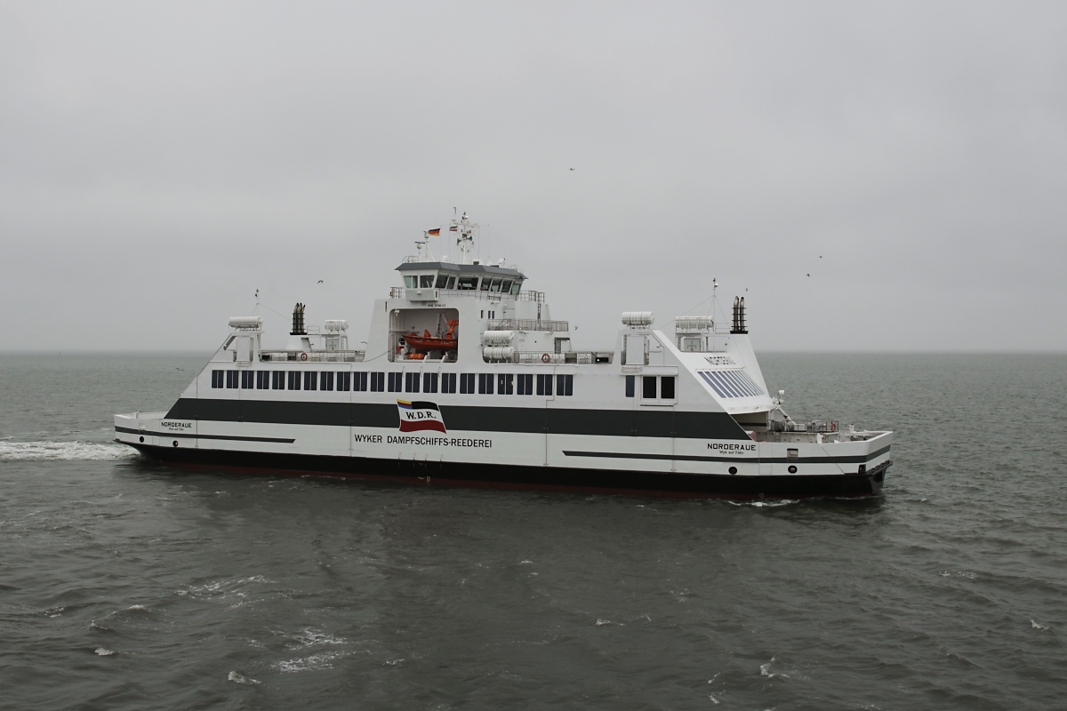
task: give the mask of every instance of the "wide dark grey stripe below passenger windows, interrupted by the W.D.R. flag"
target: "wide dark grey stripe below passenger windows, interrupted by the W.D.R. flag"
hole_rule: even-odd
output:
[[[437,407],[449,430],[469,432],[749,439],[742,426],[727,413],[441,404]],[[397,427],[397,408],[394,403],[319,403],[182,398],[166,414],[166,419],[325,424],[395,430]]]

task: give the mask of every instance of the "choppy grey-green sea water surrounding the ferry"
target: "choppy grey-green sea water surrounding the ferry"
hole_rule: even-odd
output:
[[[0,355],[0,706],[1067,708],[1067,356],[766,355],[795,417],[897,442],[880,500],[762,505],[110,441],[203,360]]]

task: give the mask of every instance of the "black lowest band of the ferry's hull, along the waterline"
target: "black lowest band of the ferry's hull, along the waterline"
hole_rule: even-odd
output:
[[[409,484],[483,486],[510,489],[634,494],[685,498],[760,499],[869,497],[881,489],[876,473],[730,475],[619,471],[573,467],[528,467],[471,462],[413,462],[368,457],[131,445],[168,464],[276,474],[322,474],[384,479]],[[885,471],[879,466],[878,473]]]

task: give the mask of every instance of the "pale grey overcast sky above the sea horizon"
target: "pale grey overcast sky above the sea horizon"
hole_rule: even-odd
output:
[[[360,341],[458,207],[579,349],[714,277],[758,350],[1065,351],[1065,37],[1060,1],[0,1],[0,350],[208,352],[256,289],[268,344],[297,301]]]

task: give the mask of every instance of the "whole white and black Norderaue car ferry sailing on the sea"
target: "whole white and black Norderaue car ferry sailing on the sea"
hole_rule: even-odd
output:
[[[424,486],[880,494],[893,433],[793,420],[767,390],[743,297],[729,324],[681,316],[670,336],[626,311],[614,349],[576,350],[519,266],[477,257],[477,230],[463,213],[424,233],[375,302],[366,348],[345,320],[308,326],[304,304],[281,350],[260,316],[230,318],[177,402],[116,415],[115,441],[182,467]],[[432,254],[442,231],[455,257]]]

